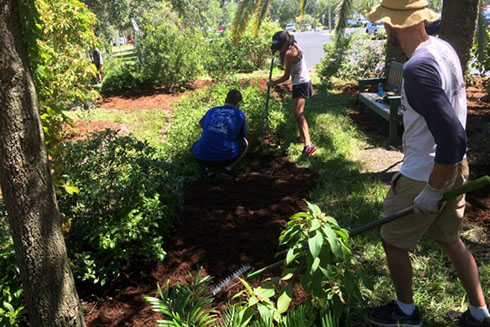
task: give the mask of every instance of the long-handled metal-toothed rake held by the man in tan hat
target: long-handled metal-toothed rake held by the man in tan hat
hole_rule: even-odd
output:
[[[490,177],[489,176],[483,176],[483,177],[480,177],[474,181],[471,181],[469,183],[466,183],[465,185],[463,186],[460,186],[456,189],[453,189],[451,191],[447,191],[444,193],[443,197],[442,197],[442,200],[441,202],[444,202],[444,201],[448,201],[448,200],[451,200],[461,194],[465,194],[465,193],[470,193],[470,192],[473,192],[475,190],[478,190],[480,188],[483,188],[487,185],[490,185]],[[349,237],[354,237],[354,236],[357,236],[357,235],[360,235],[362,233],[365,233],[367,232],[368,230],[371,230],[375,227],[378,227],[378,226],[381,226],[381,225],[384,225],[384,224],[387,224],[393,220],[396,220],[396,219],[399,219],[399,218],[402,218],[402,217],[405,217],[411,213],[413,213],[413,206],[410,206],[408,208],[405,208],[403,210],[400,210],[398,212],[395,212],[391,215],[388,215],[388,216],[385,216],[381,219],[378,219],[378,220],[375,220],[373,222],[370,222],[364,226],[361,226],[359,228],[356,228],[354,230],[352,230],[350,233],[349,233]],[[282,251],[282,252],[279,252],[279,254],[281,253],[285,253],[287,252],[286,251]],[[246,275],[246,278],[247,279],[250,279],[250,278],[253,278],[253,277],[256,277],[260,274],[262,274],[264,271],[267,271],[269,269],[272,269],[272,268],[275,268],[275,267],[278,267],[278,266],[281,266],[282,264],[284,263],[284,259],[282,260],[279,260],[271,265],[268,265],[266,267],[263,267],[261,269],[258,269],[258,270],[255,270],[255,271],[252,271],[250,272],[248,275]],[[213,295],[216,295],[217,293],[219,293],[223,288],[227,287],[233,280],[235,280],[236,278],[240,277],[241,275],[249,272],[250,270],[252,270],[252,266],[250,266],[249,264],[246,264],[244,265],[243,267],[241,267],[240,269],[238,269],[236,272],[234,272],[233,274],[231,274],[228,278],[226,278],[225,280],[223,280],[222,282],[220,282],[219,284],[217,284],[213,289],[212,289],[212,293]],[[231,287],[231,286],[230,286]]]

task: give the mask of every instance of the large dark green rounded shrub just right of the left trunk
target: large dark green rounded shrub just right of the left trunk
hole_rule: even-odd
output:
[[[155,149],[107,130],[67,144],[63,163],[79,189],[59,198],[78,281],[104,285],[131,262],[163,260],[179,181]]]

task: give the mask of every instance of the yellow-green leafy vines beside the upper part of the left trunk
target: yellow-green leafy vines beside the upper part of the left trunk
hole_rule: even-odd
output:
[[[92,87],[96,68],[87,55],[97,44],[96,16],[78,0],[22,1],[19,14],[53,181],[65,186],[58,158],[66,136],[63,127],[70,120],[63,110],[74,103],[94,103],[98,97]]]

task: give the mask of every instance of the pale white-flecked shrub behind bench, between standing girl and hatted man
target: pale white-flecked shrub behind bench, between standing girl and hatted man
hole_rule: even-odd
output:
[[[322,81],[332,78],[354,80],[383,75],[385,42],[373,42],[369,35],[354,33],[348,37],[335,36],[323,46],[325,56],[317,64]]]

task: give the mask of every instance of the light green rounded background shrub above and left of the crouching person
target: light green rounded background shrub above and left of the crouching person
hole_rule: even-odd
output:
[[[144,29],[145,37],[136,49],[144,80],[173,91],[199,76],[204,42],[200,33],[169,22]]]

